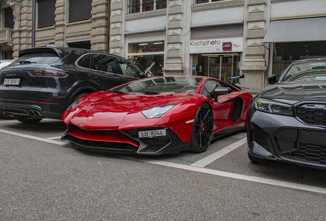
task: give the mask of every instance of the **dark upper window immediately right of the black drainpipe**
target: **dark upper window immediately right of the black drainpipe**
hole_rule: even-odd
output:
[[[37,28],[55,25],[55,2],[56,0],[37,1]]]

